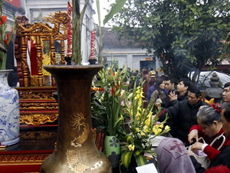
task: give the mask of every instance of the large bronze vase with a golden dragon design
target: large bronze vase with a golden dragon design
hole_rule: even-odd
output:
[[[95,145],[91,130],[91,83],[102,65],[44,66],[58,89],[58,139],[40,173],[112,172],[107,157]]]

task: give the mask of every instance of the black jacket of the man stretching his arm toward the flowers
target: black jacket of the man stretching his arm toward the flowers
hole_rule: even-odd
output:
[[[172,126],[171,131],[174,136],[184,143],[187,141],[189,129],[192,125],[197,124],[196,114],[200,106],[204,103],[199,100],[195,105],[190,105],[188,100],[180,101],[176,105],[171,106],[159,114],[159,121],[163,121],[168,113],[168,122],[176,122],[177,126]]]

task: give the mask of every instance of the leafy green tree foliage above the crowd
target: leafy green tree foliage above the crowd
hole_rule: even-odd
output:
[[[113,22],[128,40],[147,48],[165,74],[183,77],[219,63],[230,22],[229,0],[127,0]]]

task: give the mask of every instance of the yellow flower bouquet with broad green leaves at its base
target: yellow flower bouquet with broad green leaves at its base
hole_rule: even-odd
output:
[[[125,168],[129,167],[132,156],[135,157],[138,166],[147,163],[144,153],[155,155],[152,150],[151,140],[156,136],[167,133],[170,128],[158,122],[158,112],[152,116],[153,102],[144,108],[143,87],[134,87],[133,92],[127,97],[125,112],[129,117],[128,132],[124,131],[124,146],[121,146],[121,162]],[[160,111],[160,110],[159,110]]]

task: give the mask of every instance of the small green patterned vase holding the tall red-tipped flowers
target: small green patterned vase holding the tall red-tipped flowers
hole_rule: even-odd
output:
[[[116,168],[120,162],[120,142],[116,136],[105,136],[105,155],[109,158],[112,168]]]

